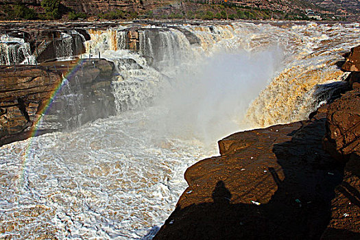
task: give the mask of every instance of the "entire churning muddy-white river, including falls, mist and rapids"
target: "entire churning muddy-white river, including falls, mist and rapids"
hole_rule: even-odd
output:
[[[91,33],[88,53],[119,69],[119,113],[0,148],[0,239],[151,239],[187,167],[232,132],[306,119],[314,86],[341,80],[335,62],[360,43],[359,24],[182,27],[200,45],[171,29],[154,53],[141,36],[156,68],[121,49],[123,27]]]

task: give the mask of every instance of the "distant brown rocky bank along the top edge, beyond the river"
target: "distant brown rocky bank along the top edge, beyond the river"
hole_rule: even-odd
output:
[[[24,16],[16,16],[16,14],[10,14],[12,8],[19,3],[23,3],[30,8],[34,9],[35,12],[43,13],[44,9],[40,6],[40,0],[0,0],[0,19],[14,19],[21,18]],[[205,13],[212,12],[212,16],[208,16],[205,19],[214,19],[216,13],[225,10],[228,15],[236,14],[233,7],[236,5],[239,8],[247,8],[251,11],[257,12],[259,15],[256,19],[269,19],[271,16],[274,18],[284,19],[285,14],[291,14],[296,16],[298,14],[305,14],[308,9],[314,10],[316,13],[321,14],[335,14],[338,17],[345,17],[348,19],[356,20],[359,18],[359,3],[356,0],[344,0],[344,1],[331,1],[331,0],[278,0],[278,1],[266,1],[266,0],[212,0],[212,1],[155,1],[155,0],[92,0],[92,1],[69,1],[62,0],[61,12],[64,14],[64,19],[67,19],[69,12],[84,12],[88,16],[94,16],[97,19],[98,16],[110,19],[134,19],[134,18],[154,18],[158,19],[193,19],[193,13]],[[221,5],[221,8],[218,8]],[[5,6],[5,7],[4,7]],[[265,10],[267,14],[271,12],[271,16],[264,16],[261,11]],[[127,12],[127,14],[119,14]],[[19,12],[18,12],[19,13]],[[108,16],[101,14],[111,13]],[[14,16],[15,15],[15,16]],[[201,14],[200,14],[201,15]],[[198,15],[198,16],[200,16]],[[197,17],[198,17],[197,16]],[[216,17],[218,18],[218,17]],[[215,18],[215,19],[216,19]],[[226,19],[227,17],[223,17]],[[239,16],[240,19],[248,19],[245,16]],[[233,19],[233,17],[230,17]],[[254,19],[254,18],[250,18]],[[328,18],[331,19],[331,18]]]

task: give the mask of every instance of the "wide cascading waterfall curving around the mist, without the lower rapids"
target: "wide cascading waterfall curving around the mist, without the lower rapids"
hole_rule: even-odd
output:
[[[200,46],[191,45],[187,36],[176,28],[186,29],[196,36]],[[159,89],[165,87],[163,84],[182,81],[178,79],[182,71],[197,74],[198,64],[208,61],[206,56],[215,58],[219,52],[254,54],[275,49],[280,55],[274,56],[276,60],[269,63],[274,73],[269,76],[268,84],[263,84],[258,97],[253,96],[243,115],[245,120],[233,120],[243,125],[241,128],[252,128],[306,119],[319,103],[314,95],[318,85],[344,78],[335,67],[336,57],[330,56],[335,56],[335,52],[355,40],[338,42],[341,35],[330,32],[333,27],[312,23],[282,27],[233,23],[176,28],[139,28],[136,30],[139,32],[138,52],[126,49],[127,29],[89,30],[92,40],[86,43],[86,51],[96,53],[101,49],[101,56],[105,53],[109,60],[117,62],[121,77],[113,82],[113,89],[119,112],[146,106],[160,93]],[[329,45],[330,37],[335,44]],[[254,67],[244,71],[251,73],[259,69]],[[191,78],[189,75],[186,77]]]

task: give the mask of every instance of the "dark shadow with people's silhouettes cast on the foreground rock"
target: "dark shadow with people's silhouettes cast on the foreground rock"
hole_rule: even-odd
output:
[[[204,187],[200,185],[197,193],[191,194],[207,195],[208,198],[211,196],[212,202],[210,199],[181,208],[183,195],[178,207],[154,239],[320,239],[331,219],[334,189],[344,178],[344,165],[322,149],[324,131],[324,119],[314,119],[304,122],[296,131],[289,130],[287,134],[291,132],[290,141],[273,143],[269,149],[275,154],[280,168],[267,168],[267,173],[271,174],[269,178],[272,177],[277,185],[277,190],[267,202],[244,203],[241,202],[243,196],[234,197],[239,192],[246,195],[252,193],[246,187],[229,190],[232,182],[236,181],[230,179],[233,173],[224,173],[230,177],[223,176],[222,180],[213,185],[213,192],[209,193],[206,184],[215,177],[211,173],[206,182],[204,180],[202,183]],[[270,136],[266,136],[266,139],[270,139]],[[256,151],[256,147],[253,151]],[[221,156],[221,160],[224,163],[224,158],[229,157]],[[215,160],[209,158],[208,161],[214,164]],[[240,164],[242,160],[243,156],[237,155],[237,163]],[[256,168],[263,163],[254,161],[252,164]],[[285,178],[280,178],[279,172]],[[259,173],[253,171],[248,174]],[[263,181],[260,175],[257,179]],[[261,193],[265,195],[269,189],[262,188]],[[349,196],[349,199],[359,204],[359,192],[346,184],[341,185],[341,188],[355,196]],[[256,193],[259,193],[259,189]],[[340,230],[334,231],[341,233]],[[359,233],[351,231],[344,236],[360,239]]]

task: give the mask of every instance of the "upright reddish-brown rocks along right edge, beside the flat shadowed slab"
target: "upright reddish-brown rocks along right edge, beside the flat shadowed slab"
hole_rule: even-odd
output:
[[[348,91],[327,108],[324,148],[344,162],[344,179],[335,188],[331,220],[322,239],[359,239],[360,235],[360,46],[346,55],[342,69],[352,71]],[[355,235],[357,232],[357,235]]]

